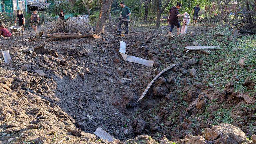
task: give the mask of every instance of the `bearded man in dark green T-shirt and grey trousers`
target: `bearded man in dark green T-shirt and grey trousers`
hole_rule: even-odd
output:
[[[125,34],[128,34],[128,31],[129,31],[128,21],[126,21],[126,20],[129,20],[130,19],[129,16],[131,15],[130,9],[127,6],[124,5],[124,2],[121,2],[120,6],[123,8],[123,10],[122,10],[122,13],[119,16],[120,21],[117,24],[117,32],[118,32],[117,35],[121,34],[121,25],[122,25],[122,23],[124,23],[124,25],[125,25]]]

